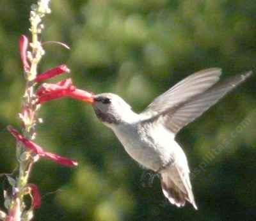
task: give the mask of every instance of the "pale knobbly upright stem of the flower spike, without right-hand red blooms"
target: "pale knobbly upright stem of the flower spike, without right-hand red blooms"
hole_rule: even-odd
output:
[[[33,5],[30,13],[31,22],[31,36],[32,41],[26,36],[20,37],[19,48],[22,66],[24,69],[24,75],[26,78],[26,87],[24,96],[22,99],[22,111],[19,114],[22,120],[22,137],[24,139],[35,139],[35,126],[38,123],[36,118],[36,110],[39,105],[36,105],[35,99],[35,78],[37,75],[37,66],[42,56],[44,55],[44,49],[41,43],[38,41],[38,34],[41,33],[44,28],[42,24],[42,18],[50,13],[49,0],[39,0],[37,4]],[[31,48],[31,51],[28,48]],[[1,217],[3,220],[31,220],[32,215],[28,216],[28,208],[24,202],[24,195],[29,194],[27,185],[28,178],[33,167],[33,163],[38,158],[32,151],[28,151],[24,146],[24,143],[17,139],[17,160],[19,162],[19,174],[17,178],[8,178],[8,181],[12,187],[12,192],[9,195],[5,195],[5,206],[8,210],[8,215],[4,215],[1,211]],[[12,182],[10,182],[12,180]],[[35,188],[34,192],[35,192]],[[32,194],[31,194],[32,195]],[[33,198],[32,198],[33,201]]]

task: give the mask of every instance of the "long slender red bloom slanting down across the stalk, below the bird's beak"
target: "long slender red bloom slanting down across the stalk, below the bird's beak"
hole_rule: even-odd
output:
[[[12,126],[8,126],[7,129],[10,133],[12,133],[13,137],[17,139],[17,141],[21,142],[26,149],[29,149],[33,153],[41,157],[48,158],[57,164],[65,165],[67,167],[74,167],[78,165],[78,163],[74,160],[70,160],[69,158],[65,158],[63,156],[59,156],[54,153],[44,151],[44,149],[38,146],[38,144],[36,144],[33,141],[30,141],[29,139],[26,139],[26,137],[20,134]]]

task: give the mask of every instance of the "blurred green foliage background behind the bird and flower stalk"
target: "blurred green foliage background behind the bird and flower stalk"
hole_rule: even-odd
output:
[[[0,1],[0,172],[17,165],[6,125],[20,128],[24,78],[18,41],[21,34],[29,36],[31,3]],[[51,9],[42,41],[66,42],[71,50],[45,45],[39,71],[66,63],[79,88],[117,93],[138,112],[198,70],[218,66],[223,78],[255,70],[256,1],[52,0]],[[43,202],[35,220],[255,220],[254,81],[177,137],[188,156],[198,211],[167,204],[158,179],[148,187],[144,170],[91,107],[75,100],[45,104],[36,142],[79,160],[79,167],[36,164],[30,181]],[[241,124],[244,119],[249,123]],[[225,148],[215,153],[220,144]],[[3,194],[0,200],[3,209]]]

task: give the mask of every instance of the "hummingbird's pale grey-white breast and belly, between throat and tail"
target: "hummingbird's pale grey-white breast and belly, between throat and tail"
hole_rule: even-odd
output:
[[[173,162],[177,145],[174,134],[163,125],[143,124],[137,121],[120,123],[111,128],[125,151],[144,167],[158,171],[164,165]]]

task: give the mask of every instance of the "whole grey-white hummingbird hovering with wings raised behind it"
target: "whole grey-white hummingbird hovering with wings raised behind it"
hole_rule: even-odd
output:
[[[175,141],[177,133],[248,79],[252,71],[223,82],[218,82],[220,75],[220,68],[193,73],[157,96],[140,114],[113,93],[88,99],[97,118],[113,130],[129,156],[159,174],[163,195],[179,208],[188,201],[197,210],[188,160]]]

